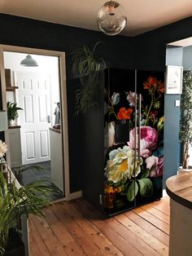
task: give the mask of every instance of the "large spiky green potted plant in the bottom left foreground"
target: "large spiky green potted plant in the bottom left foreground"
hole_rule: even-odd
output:
[[[35,181],[18,187],[0,172],[0,255],[24,255],[24,246],[17,232],[20,216],[43,216],[43,207],[50,205],[49,188],[45,181]],[[15,245],[16,243],[16,245]]]

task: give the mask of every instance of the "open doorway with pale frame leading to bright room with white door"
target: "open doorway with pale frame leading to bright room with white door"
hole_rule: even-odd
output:
[[[22,67],[20,61],[26,56],[26,53],[22,52],[30,54],[30,50],[24,48],[22,51],[20,48],[21,51],[15,52],[14,48],[17,47],[12,46],[12,51],[10,51],[11,46],[8,48],[8,51],[3,51],[4,67],[6,70],[10,70],[11,86],[16,90],[13,88],[7,90],[7,101],[15,102],[20,108],[23,108],[20,110],[18,118],[20,136],[15,135],[16,127],[11,127],[8,130],[9,141],[12,144],[10,157],[13,158],[14,145],[16,154],[21,152],[16,161],[11,160],[11,168],[40,164],[44,172],[38,172],[33,168],[29,169],[27,174],[21,177],[20,182],[50,179],[50,183],[60,191],[58,197],[53,200],[61,197],[67,199],[69,191],[68,152],[64,148],[68,148],[68,145],[66,146],[68,136],[64,133],[64,127],[66,131],[68,123],[64,122],[67,119],[67,109],[62,109],[64,105],[67,106],[67,102],[64,104],[62,102],[63,96],[66,97],[66,91],[61,91],[63,89],[60,86],[60,82],[63,82],[62,78],[65,78],[65,75],[61,75],[62,72],[59,70],[61,60],[59,55],[45,55],[43,51],[40,55],[39,50],[37,50],[37,54],[34,54],[35,50],[33,49],[32,55],[37,61],[38,67]],[[59,114],[61,123],[59,123],[58,108],[61,112]],[[44,126],[39,127],[40,125]],[[67,174],[64,170],[67,171]],[[66,177],[67,179],[65,179]]]

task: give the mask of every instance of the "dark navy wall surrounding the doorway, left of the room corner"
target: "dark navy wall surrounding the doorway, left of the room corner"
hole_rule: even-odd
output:
[[[108,67],[131,68],[133,63],[133,38],[108,37],[103,33],[77,29],[61,24],[51,24],[12,15],[0,14],[0,44],[40,48],[66,53],[66,75],[68,86],[68,135],[71,192],[81,190],[82,159],[85,159],[85,118],[74,117],[74,90],[72,77],[72,51],[87,45],[99,45],[96,54],[102,56]],[[1,105],[1,104],[0,104]],[[89,171],[89,170],[88,170]]]

